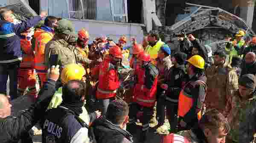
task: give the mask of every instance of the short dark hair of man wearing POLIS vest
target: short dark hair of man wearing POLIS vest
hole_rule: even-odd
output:
[[[79,80],[70,80],[62,87],[62,98],[65,103],[81,101],[86,94],[86,84]]]

